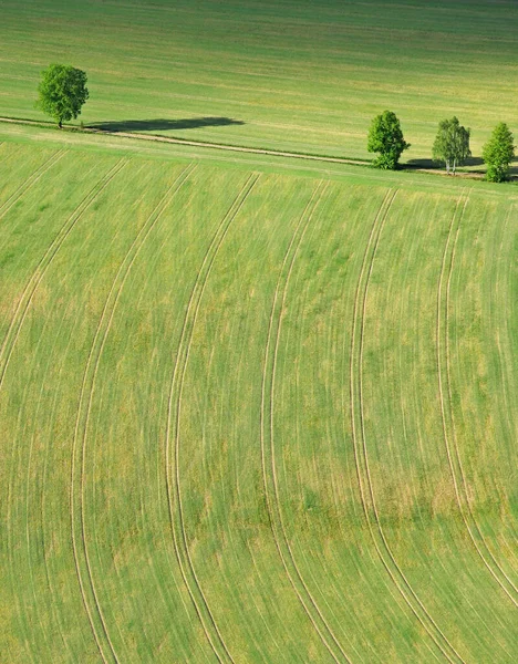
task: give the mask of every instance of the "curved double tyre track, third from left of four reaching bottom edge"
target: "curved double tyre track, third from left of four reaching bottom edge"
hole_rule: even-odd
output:
[[[274,460],[274,436],[273,436],[273,414],[274,414],[274,378],[277,369],[277,357],[279,350],[280,333],[282,326],[282,317],[286,307],[288,287],[293,266],[299,253],[300,246],[304,238],[314,211],[324,196],[327,186],[319,184],[317,189],[302,212],[297,228],[288,246],[281,271],[277,282],[273,302],[271,308],[268,339],[265,351],[262,388],[261,388],[261,459],[265,494],[270,520],[270,527],[279,552],[282,566],[287,577],[302,604],[311,624],[319,634],[322,643],[329,651],[334,662],[348,662],[351,660],[346,655],[335,634],[331,630],[324,615],[322,614],[315,599],[305,583],[300,569],[297,564],[293,551],[290,546],[288,533],[282,519],[279,498],[279,485],[277,478]]]

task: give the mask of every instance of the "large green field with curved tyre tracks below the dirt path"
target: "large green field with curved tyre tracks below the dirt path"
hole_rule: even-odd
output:
[[[516,662],[512,189],[12,132],[2,662]]]

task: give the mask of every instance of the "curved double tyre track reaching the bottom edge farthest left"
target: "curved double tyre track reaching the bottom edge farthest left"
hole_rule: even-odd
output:
[[[75,424],[74,439],[72,444],[72,464],[71,464],[71,484],[70,484],[70,510],[71,510],[71,536],[72,547],[74,552],[75,570],[77,574],[77,581],[80,584],[81,595],[83,604],[89,616],[90,625],[92,629],[95,643],[103,662],[107,663],[116,662],[120,660],[116,655],[114,645],[108,634],[107,625],[101,609],[97,592],[94,584],[92,566],[90,562],[89,549],[87,549],[87,532],[84,513],[84,485],[85,485],[85,468],[86,468],[86,438],[90,413],[92,408],[93,393],[95,388],[95,378],[97,374],[99,363],[103,353],[106,338],[110,333],[115,309],[118,303],[118,299],[124,289],[124,284],[130,274],[130,271],[144,245],[147,237],[149,236],[153,228],[162,215],[167,209],[172,199],[176,193],[180,189],[185,180],[191,175],[195,166],[189,165],[185,168],[180,175],[175,179],[173,185],[168,188],[165,196],[148,216],[146,222],[138,231],[132,246],[126,252],[115,279],[110,289],[101,319],[95,331],[95,335],[90,350],[89,359],[86,362],[83,382],[81,387],[80,400],[77,404],[77,417]],[[77,473],[79,468],[79,473]],[[79,477],[76,477],[79,475]],[[80,490],[77,495],[76,485],[79,484]],[[76,510],[80,512],[77,522]],[[79,537],[77,537],[79,535]],[[81,541],[81,549],[77,541]],[[86,583],[83,580],[83,572],[81,568],[85,569]],[[87,588],[87,590],[86,590]],[[89,596],[87,596],[89,595]],[[94,613],[96,620],[94,619]],[[96,625],[97,623],[97,625]],[[97,632],[97,627],[101,626],[101,634]],[[105,641],[108,645],[108,655],[106,656],[101,641]]]

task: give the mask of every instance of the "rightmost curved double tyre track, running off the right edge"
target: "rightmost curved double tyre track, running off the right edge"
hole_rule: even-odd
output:
[[[450,283],[454,271],[455,256],[457,249],[458,236],[460,232],[462,220],[467,207],[469,198],[466,197],[464,206],[459,212],[460,199],[457,201],[455,215],[449,226],[448,238],[444,248],[443,264],[437,287],[437,375],[438,375],[438,392],[441,400],[441,416],[443,425],[443,436],[446,446],[448,465],[452,473],[452,479],[455,488],[455,497],[463,521],[478,556],[483,560],[486,568],[489,570],[497,584],[501,588],[505,594],[509,598],[512,604],[518,608],[517,595],[518,589],[512,583],[511,579],[506,574],[499,566],[497,559],[489,549],[484,533],[478,526],[478,522],[473,513],[469,491],[466,481],[466,475],[460,458],[460,450],[455,426],[455,413],[453,407],[453,390],[450,376],[450,353],[449,353],[449,310],[450,310]],[[455,236],[453,242],[452,237]],[[445,274],[447,272],[446,288],[444,288]],[[444,353],[443,347],[444,346]],[[444,387],[446,384],[446,390]],[[448,433],[449,429],[449,433]],[[452,446],[453,440],[453,446]],[[462,490],[460,488],[462,487]],[[478,537],[475,536],[475,533]],[[486,554],[483,551],[486,551]],[[489,560],[488,560],[489,558]],[[493,563],[493,564],[491,564]],[[495,566],[495,567],[493,567]]]

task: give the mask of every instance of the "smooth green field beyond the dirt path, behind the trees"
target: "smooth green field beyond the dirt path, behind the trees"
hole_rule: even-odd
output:
[[[90,76],[85,124],[366,158],[371,118],[401,117],[429,159],[457,114],[473,153],[516,126],[514,0],[2,2],[0,115],[39,118],[40,71]],[[514,126],[515,123],[515,126]]]

